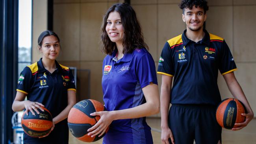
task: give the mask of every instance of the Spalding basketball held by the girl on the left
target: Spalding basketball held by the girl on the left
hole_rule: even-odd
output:
[[[28,115],[23,113],[21,118],[21,126],[24,132],[30,137],[43,137],[47,135],[52,128],[52,115],[45,108],[42,107],[45,111],[39,111],[39,114],[35,113],[33,115],[31,111],[28,111]]]

